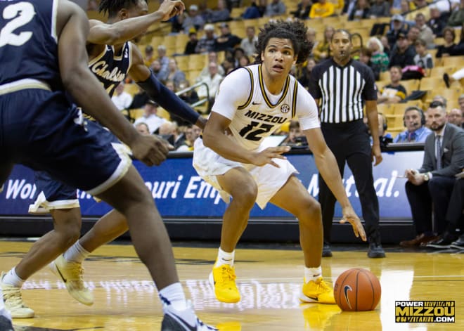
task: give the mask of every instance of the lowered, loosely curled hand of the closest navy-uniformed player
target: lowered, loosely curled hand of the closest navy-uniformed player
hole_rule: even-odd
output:
[[[148,166],[159,165],[166,160],[168,150],[167,141],[156,136],[138,135],[130,146],[132,155]]]

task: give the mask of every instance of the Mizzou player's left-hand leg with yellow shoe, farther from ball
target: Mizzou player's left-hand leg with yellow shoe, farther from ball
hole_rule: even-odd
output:
[[[233,198],[224,212],[221,228],[221,247],[210,274],[214,294],[222,302],[240,301],[236,285],[235,249],[243,231],[247,227],[250,210],[257,197],[257,185],[250,173],[243,167],[229,169],[217,176],[221,188]]]

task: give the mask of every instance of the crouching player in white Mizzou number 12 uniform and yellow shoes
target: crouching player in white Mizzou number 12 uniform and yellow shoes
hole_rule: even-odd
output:
[[[193,166],[228,202],[221,232],[221,247],[210,275],[219,301],[238,302],[240,293],[233,268],[234,249],[254,202],[264,208],[273,203],[299,220],[304,252],[304,284],[300,299],[335,304],[333,289],[322,278],[323,229],[321,208],[282,155],[289,147],[263,148],[264,137],[285,121],[297,117],[316,165],[342,206],[342,223],[353,226],[366,240],[363,226],[350,204],[335,157],[326,145],[314,99],[289,75],[311,49],[302,22],[270,22],[259,33],[255,65],[228,74],[219,87],[202,138],[195,141]],[[231,135],[226,131],[230,130]]]

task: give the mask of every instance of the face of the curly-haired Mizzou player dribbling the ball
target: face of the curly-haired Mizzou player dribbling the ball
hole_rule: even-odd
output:
[[[271,38],[261,53],[261,60],[271,76],[286,77],[297,58],[289,39]]]

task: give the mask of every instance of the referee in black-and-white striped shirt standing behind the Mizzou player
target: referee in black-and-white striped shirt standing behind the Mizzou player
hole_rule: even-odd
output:
[[[375,193],[372,162],[382,162],[378,136],[377,89],[372,70],[352,60],[352,36],[347,30],[337,30],[330,39],[332,58],[316,65],[309,79],[309,93],[320,106],[321,129],[330,150],[337,159],[343,176],[345,162],[352,170],[361,201],[368,257],[385,257],[380,242],[379,203]],[[368,124],[373,138],[372,148],[368,128],[363,124],[366,105]],[[331,257],[330,231],[335,197],[319,175],[319,202],[324,228],[323,257]]]

